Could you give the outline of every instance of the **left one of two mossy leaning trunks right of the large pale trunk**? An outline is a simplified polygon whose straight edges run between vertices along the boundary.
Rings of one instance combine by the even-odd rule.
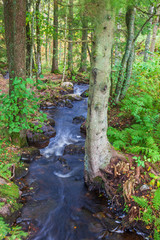
[[[115,90],[115,102],[119,102],[121,89],[123,86],[124,81],[124,75],[126,71],[127,62],[133,47],[133,41],[134,41],[134,21],[135,21],[135,8],[129,7],[126,13],[126,24],[128,29],[128,38],[126,43],[126,49],[125,54],[123,55],[122,61],[121,61],[121,67],[119,70],[119,76],[117,80],[116,90]]]

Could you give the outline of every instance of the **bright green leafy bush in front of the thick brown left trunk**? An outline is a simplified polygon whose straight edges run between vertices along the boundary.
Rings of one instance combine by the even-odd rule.
[[[30,87],[26,88],[26,84]],[[19,133],[22,129],[33,128],[36,131],[41,126],[33,126],[31,120],[36,119],[39,122],[46,120],[45,114],[38,115],[38,99],[31,90],[33,86],[32,79],[28,78],[25,82],[16,77],[13,80],[11,95],[0,95],[0,128],[7,129],[10,135]]]

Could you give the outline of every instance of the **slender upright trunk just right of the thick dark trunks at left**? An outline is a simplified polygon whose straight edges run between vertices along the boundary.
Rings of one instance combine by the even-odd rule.
[[[41,64],[41,38],[40,38],[40,20],[39,20],[39,7],[41,0],[36,1],[36,37],[37,37],[37,51],[36,51],[36,60],[37,60],[37,74],[38,76],[42,73],[42,64]]]

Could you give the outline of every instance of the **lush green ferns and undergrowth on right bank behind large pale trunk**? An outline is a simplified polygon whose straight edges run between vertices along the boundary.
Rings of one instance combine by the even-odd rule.
[[[108,129],[110,142],[117,150],[160,160],[159,60],[137,63],[131,87],[121,102],[120,116],[132,116],[134,124],[123,130]],[[159,75],[158,75],[159,74]]]

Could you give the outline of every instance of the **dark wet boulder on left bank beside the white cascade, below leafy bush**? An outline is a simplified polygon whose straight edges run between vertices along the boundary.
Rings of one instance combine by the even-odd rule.
[[[55,137],[56,130],[51,125],[41,127],[42,133],[27,131],[27,141],[29,146],[44,148],[48,146],[49,139]]]

